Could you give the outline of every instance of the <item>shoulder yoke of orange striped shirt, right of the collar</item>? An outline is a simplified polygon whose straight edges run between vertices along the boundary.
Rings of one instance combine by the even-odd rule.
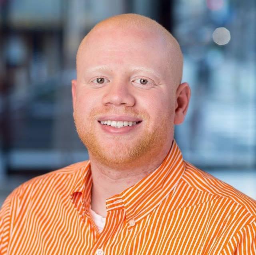
[[[225,198],[233,204],[240,205],[256,218],[256,200],[240,192],[230,184],[200,170],[193,164],[186,161],[184,163],[186,171],[183,180],[189,186],[201,192],[212,194],[215,198]]]

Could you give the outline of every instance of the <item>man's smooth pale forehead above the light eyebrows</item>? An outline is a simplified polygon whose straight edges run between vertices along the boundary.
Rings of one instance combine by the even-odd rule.
[[[138,28],[117,29],[100,28],[88,35],[80,50],[80,56],[97,61],[96,54],[101,57],[118,55],[161,55],[164,56],[166,42],[160,36]]]

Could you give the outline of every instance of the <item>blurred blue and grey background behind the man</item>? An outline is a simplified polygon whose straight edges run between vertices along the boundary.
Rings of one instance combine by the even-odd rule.
[[[184,159],[256,199],[255,0],[0,0],[0,206],[22,182],[88,159],[72,117],[76,51],[97,22],[130,12],[184,53]]]

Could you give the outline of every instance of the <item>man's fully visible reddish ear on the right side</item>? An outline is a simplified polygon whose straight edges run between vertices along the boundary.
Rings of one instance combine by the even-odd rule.
[[[175,105],[175,117],[174,124],[181,124],[188,111],[188,104],[190,100],[191,90],[188,83],[181,83],[176,90],[176,105]]]

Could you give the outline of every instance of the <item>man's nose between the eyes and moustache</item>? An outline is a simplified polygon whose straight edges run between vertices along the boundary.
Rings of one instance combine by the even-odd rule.
[[[135,98],[132,94],[132,86],[124,79],[110,81],[106,86],[106,93],[102,98],[103,105],[126,105],[132,107]]]

